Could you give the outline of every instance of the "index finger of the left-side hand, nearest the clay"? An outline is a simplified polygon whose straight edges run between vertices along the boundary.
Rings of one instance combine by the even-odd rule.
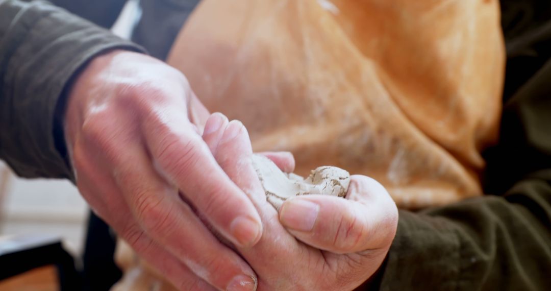
[[[220,168],[180,110],[166,109],[143,126],[150,153],[166,179],[225,238],[238,246],[256,244],[262,224],[255,207]]]

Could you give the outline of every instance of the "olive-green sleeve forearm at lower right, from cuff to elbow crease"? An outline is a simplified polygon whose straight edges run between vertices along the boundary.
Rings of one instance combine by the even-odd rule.
[[[381,290],[549,290],[551,171],[424,213],[402,211]]]

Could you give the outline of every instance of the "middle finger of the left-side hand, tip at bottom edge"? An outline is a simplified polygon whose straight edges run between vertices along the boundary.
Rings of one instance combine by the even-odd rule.
[[[249,265],[210,233],[177,190],[149,166],[139,147],[126,148],[116,181],[145,233],[214,287],[254,287],[255,273]]]

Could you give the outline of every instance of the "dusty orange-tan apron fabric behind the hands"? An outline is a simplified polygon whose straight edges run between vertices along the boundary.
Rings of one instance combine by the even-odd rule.
[[[499,21],[495,0],[203,0],[168,62],[255,150],[374,177],[417,208],[481,193]]]

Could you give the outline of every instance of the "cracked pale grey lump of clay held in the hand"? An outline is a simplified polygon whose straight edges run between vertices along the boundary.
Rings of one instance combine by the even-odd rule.
[[[283,173],[276,164],[262,155],[253,155],[252,164],[264,187],[266,200],[279,210],[289,197],[321,194],[344,197],[350,184],[350,174],[333,166],[321,166],[306,179],[293,173]]]

